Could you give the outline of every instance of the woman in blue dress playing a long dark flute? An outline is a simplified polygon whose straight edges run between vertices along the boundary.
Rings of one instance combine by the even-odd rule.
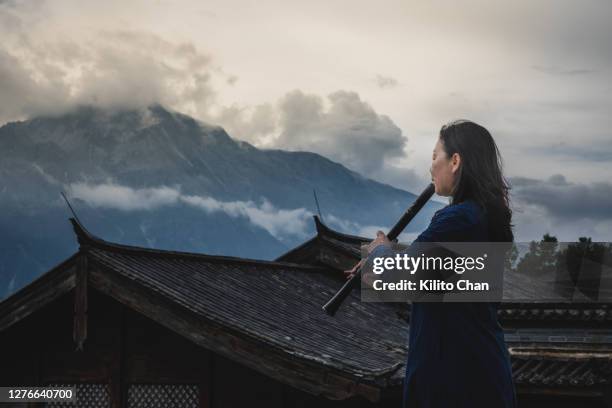
[[[484,127],[466,120],[442,126],[430,172],[436,193],[451,199],[417,242],[513,240],[499,150]],[[389,247],[379,231],[368,246],[368,260],[385,256]],[[516,407],[497,306],[413,302],[405,407]]]

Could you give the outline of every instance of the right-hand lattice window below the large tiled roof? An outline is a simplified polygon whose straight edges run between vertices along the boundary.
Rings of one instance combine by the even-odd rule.
[[[199,389],[191,384],[132,384],[128,408],[198,408]]]

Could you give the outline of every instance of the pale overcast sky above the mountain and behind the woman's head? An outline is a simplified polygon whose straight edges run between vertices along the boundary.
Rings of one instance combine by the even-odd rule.
[[[0,122],[160,102],[418,192],[467,118],[519,239],[612,240],[610,21],[605,0],[0,0]]]

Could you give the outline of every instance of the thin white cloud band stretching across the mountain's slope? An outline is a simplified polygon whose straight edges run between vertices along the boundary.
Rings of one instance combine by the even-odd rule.
[[[279,209],[265,198],[260,204],[253,201],[219,201],[213,197],[184,195],[173,187],[131,188],[111,182],[93,185],[73,183],[67,190],[70,197],[83,200],[90,206],[122,211],[154,210],[183,203],[208,214],[221,212],[233,218],[244,218],[281,240],[287,236],[306,237],[312,224],[313,214],[305,208]]]

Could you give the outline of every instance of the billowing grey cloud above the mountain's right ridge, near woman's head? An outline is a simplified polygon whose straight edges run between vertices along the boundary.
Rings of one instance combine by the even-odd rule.
[[[406,154],[401,129],[356,92],[322,97],[294,90],[275,103],[225,107],[214,119],[233,137],[260,148],[315,152],[368,178],[422,186],[423,177],[393,163]]]

